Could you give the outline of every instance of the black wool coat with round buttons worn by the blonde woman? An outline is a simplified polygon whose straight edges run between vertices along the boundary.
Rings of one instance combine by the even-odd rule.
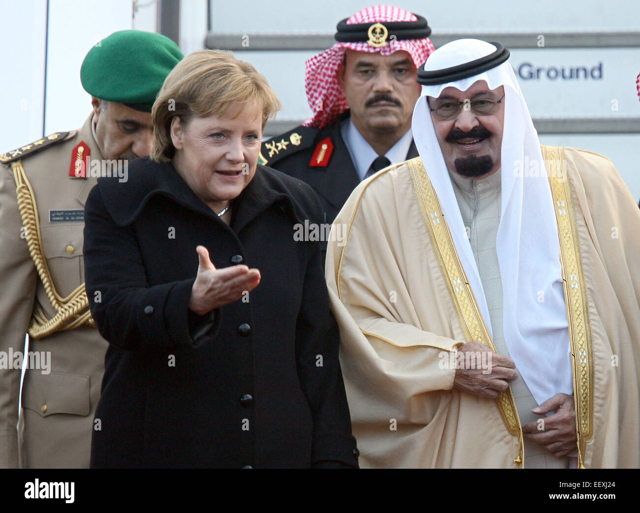
[[[318,242],[300,180],[258,166],[227,226],[172,164],[136,159],[86,201],[86,292],[109,341],[94,468],[357,466]],[[188,309],[195,248],[260,284],[200,316]],[[99,420],[99,422],[98,422]]]

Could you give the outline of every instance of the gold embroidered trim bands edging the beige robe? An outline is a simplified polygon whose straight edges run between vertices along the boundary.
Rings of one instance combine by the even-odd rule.
[[[573,200],[564,167],[564,148],[541,146],[541,150],[554,201],[560,242],[564,300],[572,357],[578,466],[585,468],[586,442],[593,435],[593,343],[589,324],[588,298],[582,271]],[[429,180],[420,159],[412,159],[408,164],[424,224],[433,241],[436,258],[445,277],[465,339],[467,342],[478,340],[495,351],[468,284],[467,276],[457,257],[451,232],[445,223],[440,202],[431,180]],[[497,405],[509,433],[517,435],[519,438],[520,454],[514,460],[516,466],[519,467],[524,462],[524,442],[520,418],[510,388],[507,392],[499,395]]]

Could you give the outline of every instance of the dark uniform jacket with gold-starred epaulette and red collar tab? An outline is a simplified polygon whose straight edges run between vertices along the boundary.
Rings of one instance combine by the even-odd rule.
[[[349,149],[340,134],[340,123],[348,116],[349,111],[346,111],[337,122],[323,129],[300,125],[262,143],[262,164],[311,185],[322,203],[326,223],[333,223],[349,194],[360,183]],[[330,146],[322,154],[322,145],[328,144],[326,139],[333,145],[328,157]],[[412,141],[406,158],[417,156],[418,150]]]

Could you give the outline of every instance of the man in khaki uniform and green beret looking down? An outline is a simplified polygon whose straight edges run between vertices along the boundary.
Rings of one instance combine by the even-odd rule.
[[[151,107],[181,58],[162,35],[112,34],[83,61],[83,127],[0,155],[0,467],[89,466],[108,343],[84,292],[84,202],[100,173],[126,179],[118,164],[149,154]]]

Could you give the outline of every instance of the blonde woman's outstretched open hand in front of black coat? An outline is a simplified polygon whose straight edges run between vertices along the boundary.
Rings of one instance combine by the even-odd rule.
[[[246,265],[233,265],[218,271],[209,260],[207,248],[198,246],[196,252],[200,262],[198,276],[191,287],[189,309],[198,315],[237,301],[245,290],[253,290],[260,283],[260,271],[257,269],[249,269]]]

